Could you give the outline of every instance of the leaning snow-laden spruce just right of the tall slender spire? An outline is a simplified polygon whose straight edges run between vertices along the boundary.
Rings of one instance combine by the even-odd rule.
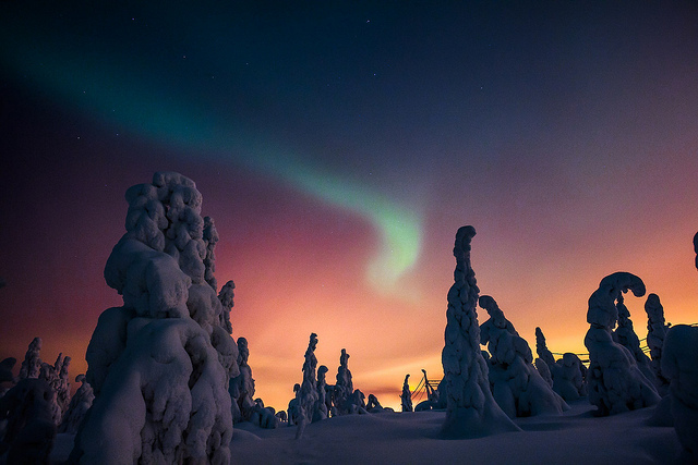
[[[538,372],[528,342],[506,319],[496,301],[483,295],[479,304],[490,315],[480,325],[480,342],[488,344],[492,393],[504,413],[514,418],[559,415],[569,409]]]

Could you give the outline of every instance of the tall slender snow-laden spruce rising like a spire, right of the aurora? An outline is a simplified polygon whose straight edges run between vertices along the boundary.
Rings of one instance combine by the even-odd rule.
[[[441,395],[446,396],[442,435],[454,439],[520,430],[494,401],[488,364],[480,352],[480,326],[476,313],[480,290],[470,266],[470,241],[474,235],[473,227],[462,227],[456,233],[455,282],[448,291],[442,351],[445,392]]]

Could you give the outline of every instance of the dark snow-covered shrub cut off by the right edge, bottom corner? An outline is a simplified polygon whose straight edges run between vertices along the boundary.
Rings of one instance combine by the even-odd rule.
[[[698,235],[697,235],[698,237]],[[666,332],[662,374],[670,380],[671,412],[678,440],[698,462],[698,328],[676,325]]]

